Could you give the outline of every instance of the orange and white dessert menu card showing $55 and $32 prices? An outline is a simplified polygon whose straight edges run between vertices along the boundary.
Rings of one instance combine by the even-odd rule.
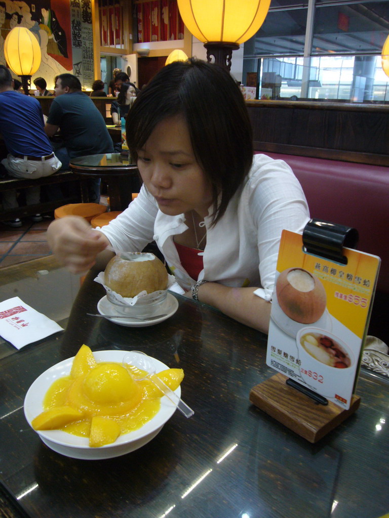
[[[283,231],[267,364],[348,409],[380,258],[343,253],[345,265],[305,253],[302,236]]]

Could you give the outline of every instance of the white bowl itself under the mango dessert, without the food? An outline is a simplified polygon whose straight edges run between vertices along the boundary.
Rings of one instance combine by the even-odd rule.
[[[129,351],[96,351],[93,353],[97,362],[117,362],[121,363],[124,356]],[[139,355],[141,357],[141,355]],[[63,362],[53,365],[41,374],[31,385],[24,398],[24,415],[31,426],[32,420],[43,412],[43,399],[51,384],[58,378],[70,374],[73,359],[68,358]],[[169,369],[167,365],[151,358],[156,372]],[[136,364],[136,361],[134,362]],[[181,396],[181,387],[174,391],[178,397]],[[138,430],[131,431],[129,434],[120,435],[112,444],[106,444],[100,448],[90,448],[87,437],[78,437],[67,434],[61,430],[39,430],[37,434],[41,440],[55,452],[66,455],[67,457],[80,459],[104,459],[118,457],[126,453],[141,448],[144,444],[154,438],[161,430],[163,425],[174,414],[176,406],[166,397],[161,398],[161,408],[159,412]]]

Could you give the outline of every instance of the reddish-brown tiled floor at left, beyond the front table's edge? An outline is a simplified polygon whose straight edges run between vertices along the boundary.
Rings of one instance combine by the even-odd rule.
[[[19,228],[0,222],[0,267],[50,255],[46,230],[51,221],[44,218],[40,223],[33,223],[25,218]]]

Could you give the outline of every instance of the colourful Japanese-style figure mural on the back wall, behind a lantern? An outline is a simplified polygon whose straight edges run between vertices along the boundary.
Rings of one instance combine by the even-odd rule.
[[[94,76],[91,0],[0,0],[0,64],[6,65],[4,41],[14,27],[28,28],[38,40],[41,63],[32,81],[43,77],[54,88],[60,74],[76,75],[82,87]]]

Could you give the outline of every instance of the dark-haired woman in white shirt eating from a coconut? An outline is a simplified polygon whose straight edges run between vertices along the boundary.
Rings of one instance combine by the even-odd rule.
[[[187,296],[267,333],[281,232],[302,231],[309,212],[285,162],[253,157],[237,83],[217,65],[174,62],[137,96],[126,131],[141,192],[99,231],[54,221],[51,249],[80,272],[108,246],[140,251],[154,239]]]

